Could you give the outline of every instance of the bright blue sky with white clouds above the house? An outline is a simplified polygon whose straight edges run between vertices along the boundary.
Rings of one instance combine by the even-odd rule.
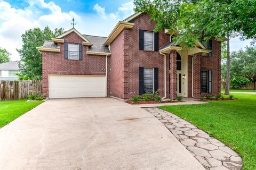
[[[16,48],[21,48],[21,35],[26,30],[47,25],[51,29],[71,28],[75,18],[81,33],[108,36],[116,23],[133,14],[132,0],[0,0],[0,47],[19,60]],[[250,45],[250,40],[231,39],[230,49],[238,50]]]

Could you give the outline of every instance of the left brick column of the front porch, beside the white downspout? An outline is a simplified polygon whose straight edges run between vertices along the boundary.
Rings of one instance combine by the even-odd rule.
[[[177,52],[171,50],[170,52],[170,98],[177,97]]]

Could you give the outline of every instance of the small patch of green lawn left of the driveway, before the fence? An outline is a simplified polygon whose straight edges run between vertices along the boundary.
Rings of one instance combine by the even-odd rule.
[[[14,100],[0,101],[0,128],[12,122],[17,117],[30,111],[34,107],[43,103],[43,101]]]

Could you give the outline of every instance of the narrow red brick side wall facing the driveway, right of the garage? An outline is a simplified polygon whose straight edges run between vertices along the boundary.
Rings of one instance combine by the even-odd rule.
[[[110,95],[124,99],[124,30],[110,47]]]

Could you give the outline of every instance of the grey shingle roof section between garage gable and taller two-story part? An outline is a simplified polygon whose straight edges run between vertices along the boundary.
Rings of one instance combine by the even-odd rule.
[[[90,36],[84,35],[84,37],[90,40],[93,43],[93,46],[89,47],[87,51],[89,52],[100,52],[100,53],[110,53],[108,47],[104,46],[104,42],[106,41],[107,37],[100,37],[100,36]]]

